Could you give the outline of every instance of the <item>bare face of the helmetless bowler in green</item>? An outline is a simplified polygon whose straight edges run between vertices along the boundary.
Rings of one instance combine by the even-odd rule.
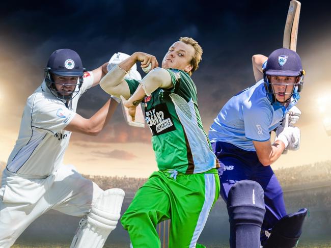
[[[177,41],[171,45],[162,60],[162,68],[173,68],[189,72],[192,69],[190,61],[194,56],[195,50],[191,45],[182,41]]]

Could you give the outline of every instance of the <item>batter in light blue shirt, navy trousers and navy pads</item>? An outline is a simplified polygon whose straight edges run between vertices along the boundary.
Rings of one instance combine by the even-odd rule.
[[[293,124],[301,115],[295,106],[305,74],[301,59],[295,51],[281,48],[273,51],[268,58],[253,56],[253,69],[256,84],[233,96],[220,110],[209,130],[209,139],[221,166],[218,169],[220,194],[227,202],[232,248],[240,247],[238,244],[247,240],[253,243],[245,243],[243,247],[259,247],[261,227],[262,245],[268,242],[264,230],[278,237],[283,244],[294,242],[294,239],[296,242],[306,215],[305,209],[294,214],[299,216],[299,221],[294,222],[295,230],[287,233],[292,236],[291,241],[284,241],[283,234],[272,233],[277,223],[289,226],[286,220],[285,224],[280,222],[288,216],[281,185],[270,164],[284,150],[299,148],[300,130]],[[289,126],[284,127],[281,124],[287,113]],[[273,130],[276,131],[274,142],[270,140]],[[237,182],[240,182],[241,187],[237,186],[240,189],[231,192]],[[229,194],[232,194],[231,202]],[[239,226],[242,226],[241,229]],[[283,227],[281,229],[284,230]],[[254,238],[252,235],[255,235]]]

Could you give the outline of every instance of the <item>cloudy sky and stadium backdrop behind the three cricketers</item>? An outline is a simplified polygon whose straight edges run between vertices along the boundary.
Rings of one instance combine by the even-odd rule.
[[[298,122],[301,148],[282,156],[272,168],[284,187],[288,211],[310,209],[301,244],[331,247],[331,137],[323,126],[331,117],[330,3],[322,5],[309,0],[301,3],[297,51],[307,71],[298,103],[302,111]],[[281,46],[288,5],[289,1],[285,0],[3,3],[0,8],[2,167],[15,144],[25,100],[40,85],[43,67],[52,51],[74,49],[91,70],[118,51],[129,54],[145,51],[161,62],[172,42],[181,36],[194,37],[204,49],[203,61],[192,78],[208,131],[224,103],[254,84],[252,55],[268,55]],[[78,113],[90,117],[107,98],[99,87],[91,89],[81,98]],[[79,172],[103,188],[126,189],[123,210],[137,187],[156,170],[150,131],[125,125],[120,108],[99,136],[73,134],[65,163],[74,164]],[[226,247],[228,222],[222,201],[217,202],[211,216],[201,241]],[[77,221],[75,217],[50,211],[23,233],[16,247],[29,243],[31,247],[43,243],[49,247],[54,243],[56,247],[57,242],[68,246]],[[107,245],[112,245],[112,240],[127,247],[128,236],[120,226]]]

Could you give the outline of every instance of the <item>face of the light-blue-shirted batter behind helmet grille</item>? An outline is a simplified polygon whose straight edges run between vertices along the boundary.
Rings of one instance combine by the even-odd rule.
[[[285,102],[292,96],[297,77],[270,76],[269,81],[272,84],[276,99],[280,102]]]

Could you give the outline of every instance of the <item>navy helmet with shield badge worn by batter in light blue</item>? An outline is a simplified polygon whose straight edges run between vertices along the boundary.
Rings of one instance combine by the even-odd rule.
[[[272,104],[285,105],[293,100],[298,100],[300,98],[299,92],[304,86],[304,75],[305,70],[302,69],[301,59],[299,54],[295,51],[287,48],[280,48],[271,52],[268,57],[267,62],[263,65],[263,79],[264,86],[267,93],[268,99]],[[275,92],[273,90],[273,85],[269,82],[268,76],[290,76],[299,77],[294,84],[282,84],[286,85],[284,93],[284,101],[280,102],[275,97]],[[287,87],[293,85],[293,90],[290,93],[286,93]],[[290,97],[286,99],[286,96],[290,94]]]

